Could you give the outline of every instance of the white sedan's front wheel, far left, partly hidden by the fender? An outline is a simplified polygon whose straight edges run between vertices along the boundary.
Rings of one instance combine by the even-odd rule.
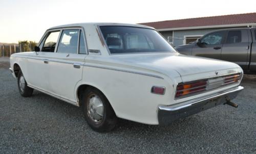
[[[28,87],[21,70],[18,72],[18,90],[23,97],[29,97],[33,93],[33,88]]]

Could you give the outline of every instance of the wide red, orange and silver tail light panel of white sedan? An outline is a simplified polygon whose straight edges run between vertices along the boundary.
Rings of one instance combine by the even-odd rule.
[[[238,83],[241,74],[219,76],[217,78],[203,79],[201,81],[180,83],[177,86],[175,98],[201,93],[203,91],[220,88],[222,86]]]

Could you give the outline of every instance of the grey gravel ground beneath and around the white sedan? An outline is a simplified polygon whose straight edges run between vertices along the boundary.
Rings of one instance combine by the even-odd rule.
[[[256,80],[234,99],[169,126],[120,119],[110,133],[90,129],[78,107],[44,93],[19,95],[0,64],[0,153],[254,153]]]

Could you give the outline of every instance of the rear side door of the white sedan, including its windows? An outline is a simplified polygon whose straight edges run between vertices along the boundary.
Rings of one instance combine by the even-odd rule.
[[[61,30],[57,49],[49,58],[49,91],[76,104],[76,84],[82,80],[82,67],[87,56],[82,29]]]

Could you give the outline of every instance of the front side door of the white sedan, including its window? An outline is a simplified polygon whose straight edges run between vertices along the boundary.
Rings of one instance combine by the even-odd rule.
[[[54,54],[59,33],[59,30],[48,31],[40,42],[40,52],[34,53],[34,56],[28,59],[28,84],[30,86],[44,91],[49,90],[49,65],[47,65],[47,59]]]

